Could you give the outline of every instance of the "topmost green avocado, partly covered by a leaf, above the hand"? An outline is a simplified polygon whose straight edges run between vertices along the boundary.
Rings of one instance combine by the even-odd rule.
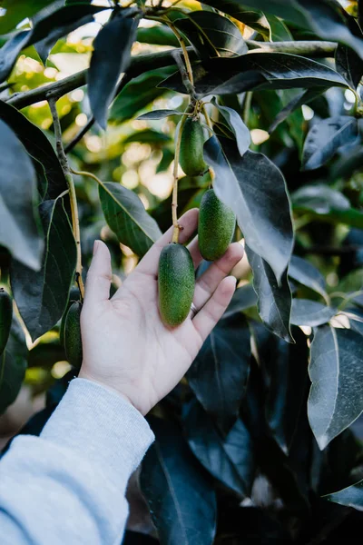
[[[188,117],[182,128],[179,163],[187,176],[201,176],[208,169],[203,159],[204,134],[200,122]]]

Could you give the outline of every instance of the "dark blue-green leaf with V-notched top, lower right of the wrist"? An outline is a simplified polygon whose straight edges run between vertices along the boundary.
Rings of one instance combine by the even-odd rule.
[[[207,471],[242,496],[250,495],[255,461],[250,433],[238,419],[225,439],[198,401],[191,401],[183,417],[187,440]]]

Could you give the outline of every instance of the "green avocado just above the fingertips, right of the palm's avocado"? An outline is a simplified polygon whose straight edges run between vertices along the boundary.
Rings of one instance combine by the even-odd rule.
[[[215,261],[226,253],[235,227],[236,216],[231,208],[209,189],[201,199],[199,211],[198,237],[202,257]]]

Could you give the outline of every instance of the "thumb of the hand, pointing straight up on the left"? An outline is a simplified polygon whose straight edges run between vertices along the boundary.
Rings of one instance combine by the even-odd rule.
[[[85,283],[84,304],[93,305],[110,297],[111,255],[105,243],[94,241],[93,258]]]

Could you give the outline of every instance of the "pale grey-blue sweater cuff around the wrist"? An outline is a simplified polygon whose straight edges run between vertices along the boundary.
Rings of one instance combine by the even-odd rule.
[[[129,401],[86,379],[70,382],[41,437],[101,466],[113,480],[131,475],[154,440]]]

